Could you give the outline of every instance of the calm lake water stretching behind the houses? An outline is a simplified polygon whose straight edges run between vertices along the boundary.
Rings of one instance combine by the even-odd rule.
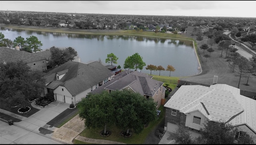
[[[114,53],[118,57],[118,64],[113,65],[120,65],[123,69],[125,59],[138,53],[146,66],[162,65],[166,69],[167,65],[172,65],[176,71],[171,72],[171,76],[190,76],[200,72],[192,41],[131,35],[55,33],[3,27],[0,32],[4,34],[4,38],[12,41],[18,36],[26,39],[34,35],[43,44],[41,47],[43,51],[53,46],[72,47],[77,51],[81,63],[100,59],[103,65],[110,65],[106,64],[105,60],[108,54]],[[141,71],[150,74],[150,71],[145,69],[146,66]],[[159,71],[152,71],[152,74],[159,75]],[[169,76],[169,74],[170,71],[160,72],[162,76]]]

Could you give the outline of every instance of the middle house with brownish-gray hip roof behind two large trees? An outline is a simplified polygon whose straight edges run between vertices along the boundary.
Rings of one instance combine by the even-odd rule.
[[[156,108],[159,108],[165,102],[166,88],[163,86],[163,82],[154,80],[152,77],[139,71],[122,71],[112,76],[112,80],[91,93],[101,93],[104,90],[111,93],[111,91],[128,89],[140,93],[145,98],[153,98],[156,102]]]

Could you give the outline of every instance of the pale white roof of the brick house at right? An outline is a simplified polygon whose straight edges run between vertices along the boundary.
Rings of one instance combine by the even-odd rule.
[[[240,95],[240,89],[227,84],[214,84],[210,87],[182,85],[164,107],[184,114],[199,111],[213,121],[228,121],[243,111],[230,123],[234,126],[246,124],[256,132],[256,100]]]

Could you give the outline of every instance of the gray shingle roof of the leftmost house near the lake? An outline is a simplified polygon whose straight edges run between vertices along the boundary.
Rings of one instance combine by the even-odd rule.
[[[6,63],[16,62],[17,60],[22,60],[24,63],[31,63],[44,59],[44,57],[37,55],[37,53],[29,53],[26,51],[18,51],[7,47],[0,47],[0,63],[3,63],[3,61]]]

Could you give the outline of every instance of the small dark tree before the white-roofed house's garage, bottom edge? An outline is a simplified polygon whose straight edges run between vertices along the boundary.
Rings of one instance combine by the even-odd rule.
[[[196,144],[190,136],[188,129],[184,125],[178,125],[174,134],[176,144]]]

